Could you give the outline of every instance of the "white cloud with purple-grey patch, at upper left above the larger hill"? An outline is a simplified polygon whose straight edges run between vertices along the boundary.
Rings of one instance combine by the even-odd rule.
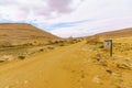
[[[81,0],[4,0],[0,1],[0,15],[19,21],[23,14],[25,20],[44,21],[73,12],[79,2]]]

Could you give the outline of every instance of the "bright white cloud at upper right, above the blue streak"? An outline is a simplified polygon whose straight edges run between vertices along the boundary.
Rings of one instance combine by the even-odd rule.
[[[85,0],[73,13],[53,19],[50,22],[131,16],[131,0]]]

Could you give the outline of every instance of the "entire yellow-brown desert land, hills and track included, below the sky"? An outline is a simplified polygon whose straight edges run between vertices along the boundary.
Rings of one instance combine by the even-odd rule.
[[[112,40],[112,57],[103,46]],[[132,88],[132,29],[62,38],[0,24],[0,88]]]

